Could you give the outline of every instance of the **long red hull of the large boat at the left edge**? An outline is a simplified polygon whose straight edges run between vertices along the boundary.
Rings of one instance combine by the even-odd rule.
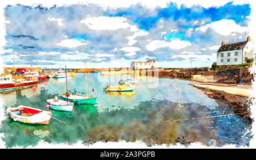
[[[34,85],[42,83],[45,80],[46,79],[38,80],[38,81],[29,81],[27,83],[20,83],[20,84],[17,84],[17,85],[15,85],[15,83],[0,84],[0,91],[32,87]]]

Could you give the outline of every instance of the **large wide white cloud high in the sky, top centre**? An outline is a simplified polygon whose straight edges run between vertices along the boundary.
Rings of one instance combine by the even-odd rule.
[[[131,32],[137,32],[139,29],[136,25],[131,25],[127,23],[127,19],[123,17],[109,17],[109,16],[99,16],[99,17],[89,17],[81,20],[80,23],[84,23],[88,28],[101,31],[101,30],[117,30],[119,28],[130,27]]]

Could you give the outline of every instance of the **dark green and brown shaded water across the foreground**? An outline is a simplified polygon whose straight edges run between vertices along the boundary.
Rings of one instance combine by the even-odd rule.
[[[76,90],[71,93],[75,94]],[[59,94],[49,94],[45,88],[29,98],[22,96],[18,90],[13,107],[24,105],[47,110],[46,100],[55,96]],[[238,116],[218,116],[223,114],[222,110],[220,112],[194,102],[151,100],[139,102],[132,109],[115,105],[103,108],[96,104],[75,105],[70,113],[51,111],[54,118],[51,118],[49,126],[12,122],[5,113],[0,133],[4,133],[2,140],[6,147],[26,148],[38,145],[40,140],[55,144],[84,141],[86,145],[97,141],[141,140],[148,146],[189,145],[193,142],[209,146],[214,141],[217,146],[246,146],[251,139],[251,131],[247,131],[248,127]],[[205,118],[209,116],[214,118]]]

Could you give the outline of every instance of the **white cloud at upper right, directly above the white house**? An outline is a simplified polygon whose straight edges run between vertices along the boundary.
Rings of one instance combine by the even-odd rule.
[[[196,28],[196,31],[199,29],[205,32],[208,28],[214,29],[214,31],[224,35],[229,36],[232,32],[243,33],[249,31],[247,27],[241,27],[241,25],[236,24],[232,19],[222,19],[219,21],[213,21],[207,25]]]

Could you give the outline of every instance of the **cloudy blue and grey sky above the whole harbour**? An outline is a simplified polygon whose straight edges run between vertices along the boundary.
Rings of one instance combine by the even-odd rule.
[[[249,3],[102,3],[6,5],[3,66],[130,67],[152,59],[158,67],[211,67],[221,41],[245,41],[250,31]]]

